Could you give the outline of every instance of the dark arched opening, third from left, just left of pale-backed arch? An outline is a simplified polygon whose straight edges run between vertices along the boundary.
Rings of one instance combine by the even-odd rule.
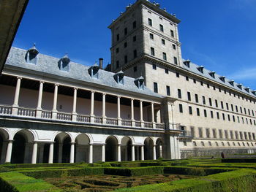
[[[58,132],[54,138],[53,162],[54,163],[69,163],[70,161],[70,146],[72,137],[67,132]],[[49,144],[45,145],[44,153],[47,154]],[[45,155],[44,155],[45,156]]]

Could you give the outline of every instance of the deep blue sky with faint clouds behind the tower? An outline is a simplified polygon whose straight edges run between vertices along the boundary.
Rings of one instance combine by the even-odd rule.
[[[30,0],[13,46],[110,63],[108,26],[135,0]],[[256,89],[256,0],[159,0],[181,20],[182,57]]]

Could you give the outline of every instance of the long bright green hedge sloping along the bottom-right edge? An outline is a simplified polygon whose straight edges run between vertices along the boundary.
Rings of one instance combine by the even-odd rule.
[[[176,180],[170,183],[121,188],[115,192],[254,192],[256,171],[240,169],[233,172],[211,174],[197,179]]]

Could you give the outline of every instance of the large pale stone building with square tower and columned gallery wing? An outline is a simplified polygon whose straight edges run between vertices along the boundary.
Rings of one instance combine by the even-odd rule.
[[[182,59],[178,23],[138,0],[113,20],[111,64],[12,47],[0,161],[135,161],[256,150],[256,92]],[[110,71],[110,72],[109,72]]]

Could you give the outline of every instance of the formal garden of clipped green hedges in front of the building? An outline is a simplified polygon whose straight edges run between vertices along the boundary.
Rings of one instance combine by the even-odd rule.
[[[4,164],[3,192],[255,191],[256,158]]]

